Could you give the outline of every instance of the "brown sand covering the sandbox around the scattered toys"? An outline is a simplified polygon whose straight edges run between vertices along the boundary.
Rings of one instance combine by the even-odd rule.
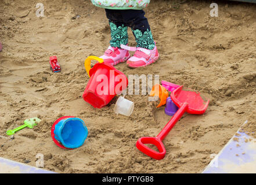
[[[146,11],[160,59],[146,68],[116,68],[125,75],[152,74],[193,88],[210,98],[203,115],[185,114],[164,139],[167,154],[157,161],[136,149],[142,136],[156,136],[170,116],[154,108],[149,95],[126,95],[134,101],[131,117],[110,105],[95,109],[82,99],[89,80],[84,60],[109,46],[110,28],[103,9],[89,0],[0,0],[0,156],[35,166],[44,154],[44,168],[59,173],[200,173],[240,125],[255,128],[256,5],[216,1],[152,1]],[[129,45],[135,39],[129,29]],[[52,73],[56,55],[62,72]],[[8,139],[5,132],[25,119],[41,123]],[[51,127],[61,116],[85,121],[88,138],[74,150],[53,143]]]

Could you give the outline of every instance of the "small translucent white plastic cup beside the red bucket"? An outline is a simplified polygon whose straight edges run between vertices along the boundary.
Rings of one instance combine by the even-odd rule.
[[[114,112],[117,114],[122,114],[124,116],[131,116],[134,111],[134,102],[125,99],[124,97],[119,97],[117,99],[116,105],[114,107]]]

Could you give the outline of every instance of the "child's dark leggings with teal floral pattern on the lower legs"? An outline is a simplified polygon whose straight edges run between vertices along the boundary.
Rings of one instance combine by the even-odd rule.
[[[105,10],[111,29],[110,46],[127,45],[127,28],[130,27],[135,36],[137,47],[154,49],[154,39],[143,10]]]

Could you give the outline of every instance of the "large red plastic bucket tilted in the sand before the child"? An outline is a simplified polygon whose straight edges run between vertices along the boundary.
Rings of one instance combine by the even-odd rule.
[[[95,57],[93,60],[95,60]],[[91,78],[82,97],[94,108],[106,106],[115,95],[121,94],[128,86],[127,76],[112,65],[104,62],[96,63],[89,70],[88,75]]]

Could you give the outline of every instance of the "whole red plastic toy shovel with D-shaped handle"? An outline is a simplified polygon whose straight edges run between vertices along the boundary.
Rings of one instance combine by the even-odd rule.
[[[176,88],[172,91],[171,99],[179,110],[172,116],[171,120],[165,125],[162,131],[154,137],[143,137],[139,138],[136,143],[136,147],[145,153],[147,156],[152,157],[156,160],[161,160],[164,158],[166,150],[162,140],[171,131],[172,127],[179,121],[185,112],[190,114],[203,114],[208,107],[209,100],[204,101],[201,98],[199,92],[195,92],[191,89],[182,89],[183,86]],[[152,144],[157,147],[158,151],[152,150],[145,144]]]

